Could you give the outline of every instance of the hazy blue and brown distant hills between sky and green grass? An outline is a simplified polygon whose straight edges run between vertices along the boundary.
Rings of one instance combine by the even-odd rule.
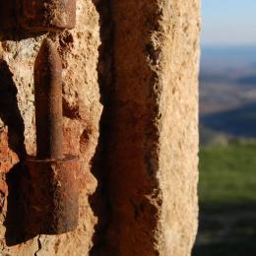
[[[201,144],[256,138],[256,47],[203,47]]]

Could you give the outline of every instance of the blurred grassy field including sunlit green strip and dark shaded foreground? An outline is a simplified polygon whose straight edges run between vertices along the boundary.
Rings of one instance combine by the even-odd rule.
[[[193,256],[256,255],[256,142],[200,151],[200,228]]]

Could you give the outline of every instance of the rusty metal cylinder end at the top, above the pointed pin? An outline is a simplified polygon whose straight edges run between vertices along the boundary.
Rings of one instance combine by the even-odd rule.
[[[76,0],[21,0],[20,26],[28,31],[58,31],[76,25]]]

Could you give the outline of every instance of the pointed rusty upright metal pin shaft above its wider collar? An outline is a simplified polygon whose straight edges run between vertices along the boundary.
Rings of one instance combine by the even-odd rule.
[[[63,159],[62,66],[48,38],[34,63],[34,96],[37,159]]]

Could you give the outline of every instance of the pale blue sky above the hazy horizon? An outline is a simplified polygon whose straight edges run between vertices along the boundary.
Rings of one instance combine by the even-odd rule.
[[[256,45],[256,0],[202,0],[202,45]]]

